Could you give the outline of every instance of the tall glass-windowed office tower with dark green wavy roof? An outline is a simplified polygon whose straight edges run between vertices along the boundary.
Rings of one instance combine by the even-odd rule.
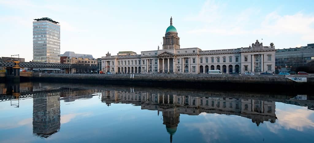
[[[33,62],[60,63],[59,22],[44,17],[33,22]]]

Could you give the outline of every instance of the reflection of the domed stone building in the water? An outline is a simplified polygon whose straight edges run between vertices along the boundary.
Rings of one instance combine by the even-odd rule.
[[[198,115],[217,113],[237,115],[252,119],[259,126],[264,121],[275,123],[275,102],[253,99],[210,98],[197,96],[179,96],[170,94],[152,94],[148,92],[102,91],[102,102],[133,103],[142,109],[162,112],[163,124],[170,134],[170,142],[180,122],[180,114]]]

